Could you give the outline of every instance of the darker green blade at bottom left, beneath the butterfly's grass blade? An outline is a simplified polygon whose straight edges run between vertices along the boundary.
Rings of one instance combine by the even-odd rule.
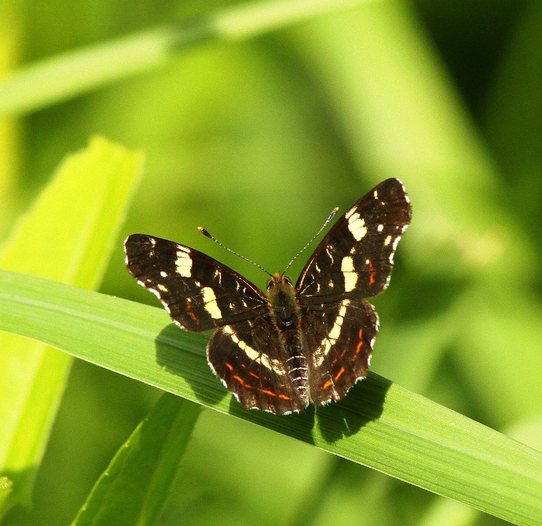
[[[120,447],[73,526],[157,523],[201,406],[166,393]]]

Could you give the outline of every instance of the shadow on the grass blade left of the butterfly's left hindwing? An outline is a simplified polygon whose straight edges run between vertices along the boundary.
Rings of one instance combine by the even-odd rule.
[[[185,332],[170,323],[155,338],[156,362],[168,373],[182,377],[203,404],[216,405],[228,391],[207,364],[205,345],[208,339],[205,334]]]

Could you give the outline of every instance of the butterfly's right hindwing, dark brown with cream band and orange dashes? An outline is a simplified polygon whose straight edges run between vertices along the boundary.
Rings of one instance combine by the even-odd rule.
[[[302,317],[309,354],[309,396],[313,403],[340,400],[367,376],[378,316],[367,301],[343,299],[311,305]]]

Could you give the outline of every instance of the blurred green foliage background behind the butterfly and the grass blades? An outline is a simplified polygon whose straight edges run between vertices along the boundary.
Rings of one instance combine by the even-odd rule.
[[[229,5],[0,0],[0,74]],[[103,134],[146,153],[123,235],[196,247],[263,286],[196,227],[281,271],[333,207],[399,177],[413,221],[374,301],[373,371],[537,446],[541,34],[537,1],[371,1],[179,51],[155,71],[0,122],[0,231],[65,155]],[[122,237],[101,291],[158,304],[127,275]],[[75,362],[21,523],[68,523],[159,394]],[[171,525],[502,523],[211,410],[171,509]]]

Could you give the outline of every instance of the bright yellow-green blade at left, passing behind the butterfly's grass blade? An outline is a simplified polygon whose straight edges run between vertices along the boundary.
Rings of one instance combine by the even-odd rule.
[[[92,140],[66,159],[23,216],[3,247],[0,266],[94,288],[140,166],[140,154]],[[0,470],[14,483],[9,505],[29,505],[71,359],[13,334],[0,334],[0,348],[0,377],[7,386],[0,397]]]

